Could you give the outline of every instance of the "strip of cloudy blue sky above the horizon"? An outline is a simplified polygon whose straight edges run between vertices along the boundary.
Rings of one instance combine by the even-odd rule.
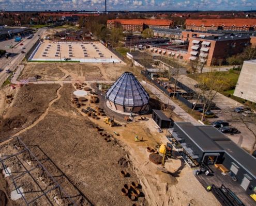
[[[0,0],[0,9],[104,10],[104,0]],[[107,0],[108,10],[256,10],[256,0]]]

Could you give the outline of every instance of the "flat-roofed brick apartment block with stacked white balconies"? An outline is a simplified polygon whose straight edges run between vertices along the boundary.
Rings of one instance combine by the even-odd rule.
[[[190,38],[187,59],[192,61],[198,59],[210,66],[217,64],[218,60],[225,60],[229,56],[243,52],[243,49],[249,44],[249,36]]]

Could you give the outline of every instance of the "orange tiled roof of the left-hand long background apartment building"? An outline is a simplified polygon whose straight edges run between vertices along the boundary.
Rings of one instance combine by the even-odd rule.
[[[161,26],[170,26],[172,24],[172,20],[165,19],[115,19],[108,20],[107,24],[114,24],[115,22],[120,22],[121,24],[127,25],[161,25]]]

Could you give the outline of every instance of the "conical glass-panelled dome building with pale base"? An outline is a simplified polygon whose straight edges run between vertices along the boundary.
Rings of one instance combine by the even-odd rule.
[[[111,107],[122,112],[140,112],[148,105],[149,95],[138,79],[125,72],[107,91],[106,98]]]

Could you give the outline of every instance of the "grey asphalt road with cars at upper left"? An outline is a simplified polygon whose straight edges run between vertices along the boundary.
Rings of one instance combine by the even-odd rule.
[[[7,77],[9,76],[9,74],[7,74],[5,71],[6,70],[11,70],[13,71],[16,66],[22,61],[22,59],[25,57],[25,54],[21,54],[21,51],[23,50],[25,53],[28,52],[28,50],[35,44],[35,42],[40,38],[38,35],[42,36],[43,33],[46,31],[47,29],[38,29],[36,33],[34,33],[34,36],[32,39],[23,39],[21,42],[17,43],[14,42],[14,39],[11,40],[7,40],[7,41],[3,41],[0,42],[0,48],[5,49],[7,52],[12,53],[11,56],[9,56],[8,59],[6,59],[5,57],[2,57],[0,59],[0,68],[1,68],[1,72],[0,72],[0,83],[2,84]],[[22,46],[20,44],[23,44]],[[5,48],[6,45],[10,45],[12,44],[14,47],[13,48]],[[25,47],[25,49],[22,49],[22,47]]]

